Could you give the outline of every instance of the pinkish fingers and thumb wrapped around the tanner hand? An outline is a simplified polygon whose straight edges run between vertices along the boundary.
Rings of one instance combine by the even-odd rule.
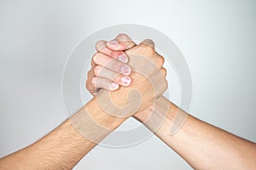
[[[118,46],[113,42],[119,41]],[[91,69],[87,74],[86,88],[90,94],[96,95],[100,89],[115,91],[119,86],[129,86],[131,84],[131,67],[128,63],[128,56],[125,50],[135,47],[136,44],[126,35],[119,35],[112,42],[96,42],[97,53],[91,60]],[[108,48],[109,47],[109,48]],[[116,50],[111,49],[114,48]],[[105,65],[108,62],[108,65]],[[105,65],[105,66],[103,66]],[[108,68],[107,68],[108,66]]]

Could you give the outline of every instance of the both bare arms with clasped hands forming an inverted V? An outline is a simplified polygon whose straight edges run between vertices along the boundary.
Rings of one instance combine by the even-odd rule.
[[[0,169],[72,169],[130,116],[195,169],[255,169],[255,143],[189,116],[161,96],[166,70],[154,42],[136,44],[121,34],[97,42],[96,50],[86,82],[95,97],[44,138],[1,158]]]

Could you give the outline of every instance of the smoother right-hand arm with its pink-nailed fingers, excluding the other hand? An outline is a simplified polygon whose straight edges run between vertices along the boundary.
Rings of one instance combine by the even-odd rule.
[[[108,57],[116,58],[117,53],[122,54],[122,51],[120,50],[125,52],[125,50],[136,45],[131,41],[131,38],[126,35],[119,35],[119,37],[116,37],[114,40],[119,42],[119,44],[115,43],[112,45],[111,42],[98,42],[96,46],[97,51],[108,55]],[[124,40],[126,41],[123,42]],[[101,48],[99,48],[99,44],[101,44]],[[102,46],[106,46],[107,48],[102,48]],[[103,57],[104,55],[102,55],[102,58]],[[96,65],[97,63],[92,61],[92,68],[88,73],[89,78],[86,83],[86,87],[89,91],[92,92],[92,89],[97,89],[96,91],[99,91],[101,88],[114,91],[118,88],[106,88],[110,87],[111,83],[115,81],[109,77],[102,76],[101,84],[94,84],[91,82],[92,77],[95,79],[98,78],[93,71]],[[119,73],[116,71],[114,72],[116,74]],[[115,82],[119,83],[119,86],[123,85],[119,81]],[[128,84],[125,84],[125,86],[128,86]],[[175,120],[175,116],[177,113],[186,113],[181,111],[167,99],[160,99],[161,103],[167,103],[167,105],[170,106],[170,109],[166,117],[162,117],[165,115],[162,111],[158,111],[154,115],[156,118],[166,118],[165,122],[161,124],[155,134],[175,150],[178,155],[182,156],[191,167],[194,167],[195,169],[256,169],[255,143],[248,141],[247,139],[241,139],[236,135],[225,132],[218,127],[214,127],[207,122],[202,122],[194,116],[188,115],[183,126],[177,133],[172,135],[170,129]],[[156,106],[158,106],[158,104]],[[152,114],[151,109],[152,108],[150,107],[145,111],[140,111],[134,116],[138,121],[145,123],[149,129],[154,131],[154,122],[147,122],[148,117]]]

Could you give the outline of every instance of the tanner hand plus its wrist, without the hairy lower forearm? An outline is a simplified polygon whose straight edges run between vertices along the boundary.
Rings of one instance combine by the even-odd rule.
[[[103,111],[106,116],[124,120],[154,106],[159,102],[158,98],[161,94],[166,91],[166,70],[162,68],[164,59],[154,51],[154,48],[140,44],[125,53],[130,58],[128,64],[132,68],[131,85],[120,87],[114,92],[101,89],[93,99],[97,102],[96,108],[82,108],[78,114],[69,119],[84,138],[95,143],[99,143],[105,136],[112,133],[113,129],[102,125],[97,121],[100,120],[96,117],[98,115],[91,116],[91,113],[101,110],[99,112]],[[155,108],[152,112],[155,112],[154,110]]]

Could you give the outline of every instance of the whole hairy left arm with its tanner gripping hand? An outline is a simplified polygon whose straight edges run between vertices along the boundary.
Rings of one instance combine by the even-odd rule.
[[[132,83],[130,87],[120,87],[119,90],[111,93],[111,99],[115,105],[119,107],[124,106],[127,115],[117,115],[117,113],[107,113],[108,111],[117,111],[116,108],[108,107],[106,110],[102,110],[102,103],[99,101],[108,94],[108,91],[101,91],[96,97],[91,99],[83,108],[77,111],[67,121],[63,122],[59,127],[56,127],[51,133],[39,139],[34,144],[27,146],[22,150],[18,150],[15,153],[5,156],[0,159],[0,169],[8,170],[34,170],[34,169],[72,169],[80,159],[82,159],[97,142],[100,142],[114,129],[119,127],[134,111],[143,111],[148,108],[149,105],[154,104],[154,99],[160,96],[166,90],[165,74],[166,70],[162,68],[163,59],[160,55],[156,54],[154,48],[148,46],[146,41],[131,48],[128,53],[138,54],[143,56],[150,63],[155,64],[148,77],[154,77],[154,75],[162,75],[164,78],[159,81],[155,81],[154,85],[160,87],[158,91],[152,93],[152,84],[147,81],[147,78],[142,77],[137,73],[129,73],[132,77]],[[97,55],[97,54],[96,54]],[[96,56],[95,55],[95,56]],[[134,58],[136,59],[136,58]],[[110,62],[111,64],[111,62]],[[143,63],[137,61],[131,65],[132,67],[139,67]],[[120,69],[122,65],[115,65],[115,69]],[[126,73],[128,75],[128,73]],[[97,82],[97,81],[96,81]],[[136,90],[138,94],[142,96],[141,105],[139,108],[135,108],[133,105],[137,105],[137,95],[134,94],[129,100],[129,107],[125,105],[127,103],[127,94],[132,89]],[[103,98],[104,99],[104,98]],[[131,110],[131,113],[129,112]]]

